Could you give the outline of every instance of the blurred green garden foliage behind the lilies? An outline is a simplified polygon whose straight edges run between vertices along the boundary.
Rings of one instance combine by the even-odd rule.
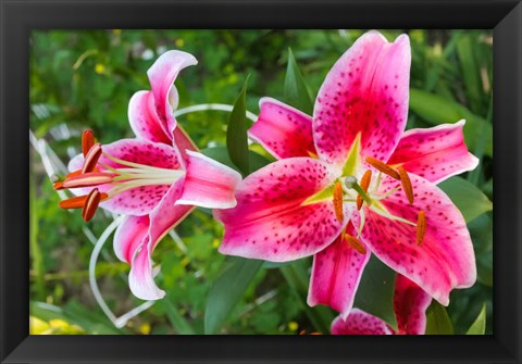
[[[493,328],[493,37],[489,30],[382,30],[393,40],[408,33],[412,46],[410,114],[407,128],[467,120],[470,150],[480,166],[448,181],[450,197],[468,209],[477,258],[478,281],[455,290],[447,313],[451,330],[464,334],[483,304],[486,332]],[[291,48],[314,98],[326,72],[362,30],[52,30],[30,35],[30,129],[64,161],[78,151],[79,134],[94,129],[99,140],[133,137],[127,104],[134,92],[150,89],[147,70],[170,49],[192,53],[197,66],[176,80],[179,108],[228,103],[250,74],[247,109],[258,113],[261,97],[284,100]],[[178,117],[201,149],[225,145],[225,112]],[[35,142],[30,147],[30,331],[32,334],[202,334],[212,283],[224,256],[217,253],[223,229],[211,214],[196,210],[154,251],[157,280],[167,296],[124,327],[115,327],[94,299],[88,280],[92,243],[113,216],[98,213],[85,224],[79,212],[60,210]],[[41,143],[40,143],[41,147]],[[260,148],[256,148],[261,151]],[[449,193],[449,192],[448,192]],[[471,193],[476,203],[470,203]],[[462,198],[464,196],[464,198]],[[463,201],[462,201],[463,200]],[[464,214],[465,215],[465,214]],[[88,227],[89,231],[85,229]],[[86,236],[87,233],[87,236]],[[126,284],[128,266],[112,252],[112,237],[96,266],[101,293],[121,315],[140,304]],[[264,264],[234,306],[222,334],[327,332],[335,313],[306,305],[311,260],[291,268]],[[430,314],[438,307],[431,307]],[[444,313],[445,314],[445,313]],[[448,329],[449,330],[449,329]]]

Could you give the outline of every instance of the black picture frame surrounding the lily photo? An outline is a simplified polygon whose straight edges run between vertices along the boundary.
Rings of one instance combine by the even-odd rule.
[[[0,0],[2,363],[521,363],[522,4],[515,0]],[[46,28],[494,28],[494,335],[29,336],[28,51]]]

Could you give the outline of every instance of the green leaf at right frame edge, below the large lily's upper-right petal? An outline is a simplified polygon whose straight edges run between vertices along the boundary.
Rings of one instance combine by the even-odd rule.
[[[438,185],[445,191],[451,201],[459,208],[467,223],[493,210],[493,203],[489,201],[476,186],[470,184],[463,178],[452,177]]]

